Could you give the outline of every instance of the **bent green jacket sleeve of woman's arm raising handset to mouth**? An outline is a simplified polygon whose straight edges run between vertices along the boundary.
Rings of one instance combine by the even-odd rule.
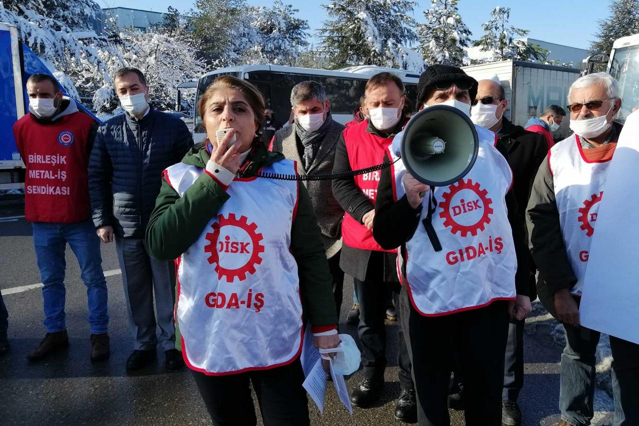
[[[197,241],[204,226],[228,199],[226,190],[206,173],[181,197],[163,177],[146,228],[146,244],[151,255],[159,260],[180,257]]]

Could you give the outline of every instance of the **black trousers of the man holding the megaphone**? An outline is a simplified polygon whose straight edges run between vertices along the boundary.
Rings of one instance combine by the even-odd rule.
[[[438,317],[413,308],[408,290],[399,298],[417,394],[420,426],[448,426],[447,395],[453,354],[458,349],[464,377],[467,426],[502,424],[504,351],[508,335],[507,302]]]

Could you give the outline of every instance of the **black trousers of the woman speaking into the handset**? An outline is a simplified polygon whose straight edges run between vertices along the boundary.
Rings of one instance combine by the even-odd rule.
[[[310,425],[308,400],[302,387],[300,359],[270,370],[229,375],[192,371],[197,389],[215,426],[254,426],[258,423],[249,381],[258,396],[265,426]]]

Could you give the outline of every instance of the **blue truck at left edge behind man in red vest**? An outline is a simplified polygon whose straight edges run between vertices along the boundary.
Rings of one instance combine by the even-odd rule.
[[[15,146],[12,129],[13,123],[29,111],[26,83],[38,73],[53,76],[40,58],[20,42],[17,28],[0,22],[0,190],[24,189],[24,162]],[[64,89],[63,95],[70,98]],[[80,102],[73,101],[78,109],[100,122]]]

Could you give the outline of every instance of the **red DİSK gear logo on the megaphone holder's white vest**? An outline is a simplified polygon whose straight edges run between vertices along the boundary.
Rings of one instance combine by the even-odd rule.
[[[442,195],[440,217],[443,225],[450,228],[450,233],[459,233],[473,237],[483,231],[490,223],[493,214],[493,200],[488,198],[488,191],[482,189],[478,182],[460,179],[449,186],[449,192]]]

